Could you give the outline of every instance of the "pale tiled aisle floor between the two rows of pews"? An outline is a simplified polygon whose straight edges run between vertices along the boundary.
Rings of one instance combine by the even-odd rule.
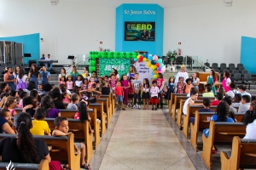
[[[119,113],[100,169],[171,170],[195,167],[162,110],[129,109]]]

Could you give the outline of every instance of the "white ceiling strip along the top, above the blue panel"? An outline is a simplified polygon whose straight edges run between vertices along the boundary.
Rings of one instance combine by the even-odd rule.
[[[72,0],[73,1],[73,0]],[[100,6],[118,7],[122,3],[157,3],[163,8],[191,6],[201,3],[224,3],[224,0],[82,0]],[[60,0],[61,3],[61,0]]]

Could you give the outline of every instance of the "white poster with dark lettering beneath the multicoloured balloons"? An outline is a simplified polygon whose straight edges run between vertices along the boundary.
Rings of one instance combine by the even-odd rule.
[[[148,78],[149,83],[151,82],[151,78],[153,78],[152,75],[152,69],[147,66],[146,61],[143,62],[136,62],[134,63],[134,66],[137,69],[137,72],[139,73],[139,79],[143,82],[144,78]]]

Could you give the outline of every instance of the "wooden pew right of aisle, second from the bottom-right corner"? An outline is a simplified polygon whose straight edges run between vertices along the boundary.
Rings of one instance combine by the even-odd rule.
[[[230,144],[234,136],[243,138],[246,127],[241,122],[210,122],[209,136],[202,134],[203,149],[201,158],[209,169],[212,167],[213,144]]]

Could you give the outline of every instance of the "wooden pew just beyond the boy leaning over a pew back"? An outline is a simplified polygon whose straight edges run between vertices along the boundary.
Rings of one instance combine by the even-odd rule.
[[[50,129],[55,128],[54,118],[46,118],[45,121],[48,123]],[[77,119],[68,119],[69,130],[73,133],[74,139],[79,139],[86,145],[86,161],[89,163],[93,156],[92,148],[92,133],[89,133],[89,122],[80,122]]]

